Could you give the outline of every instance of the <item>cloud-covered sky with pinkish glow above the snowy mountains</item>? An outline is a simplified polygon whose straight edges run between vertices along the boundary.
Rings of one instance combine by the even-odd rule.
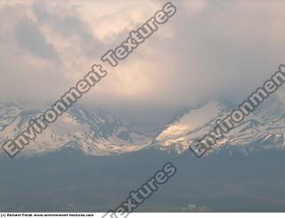
[[[1,100],[57,100],[165,3],[1,1]],[[102,63],[108,77],[80,101],[165,107],[240,101],[285,62],[284,1],[172,3],[175,16],[118,67]]]

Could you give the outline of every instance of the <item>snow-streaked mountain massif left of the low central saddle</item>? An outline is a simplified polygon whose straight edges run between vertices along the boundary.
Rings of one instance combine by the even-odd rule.
[[[10,113],[7,109],[2,112],[2,117]],[[0,119],[7,123],[0,131],[0,142],[16,137],[28,126],[29,119],[43,113],[44,109],[22,110],[14,113],[10,122]],[[76,146],[86,155],[114,155],[142,149],[150,142],[149,137],[130,131],[115,117],[75,105],[58,117],[56,122],[48,125],[20,154],[43,154],[66,146]]]

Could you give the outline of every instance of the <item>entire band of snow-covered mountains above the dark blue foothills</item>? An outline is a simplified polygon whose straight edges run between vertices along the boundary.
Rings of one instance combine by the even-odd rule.
[[[225,117],[235,108],[231,101],[208,101],[196,108],[183,109],[151,137],[102,110],[74,105],[20,154],[33,156],[72,147],[82,150],[85,155],[112,156],[153,147],[180,155],[191,141],[208,133],[217,118]],[[283,111],[277,99],[267,102],[226,134],[212,152],[222,148],[230,152],[238,149],[245,154],[260,149],[284,149]],[[39,117],[43,112],[44,109],[25,109],[15,102],[1,103],[0,142],[16,137],[28,126],[29,119]]]

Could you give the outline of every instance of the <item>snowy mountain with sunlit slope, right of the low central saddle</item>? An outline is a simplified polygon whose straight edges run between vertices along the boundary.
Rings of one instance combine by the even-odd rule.
[[[279,105],[276,103],[276,105]],[[197,109],[190,109],[183,116],[168,124],[155,138],[159,149],[175,150],[178,153],[189,148],[191,141],[200,139],[216,126],[216,119],[230,115],[236,106],[230,101],[209,101]],[[253,114],[216,143],[216,149],[240,147],[250,150],[283,148],[285,130],[284,112],[274,107],[269,113],[267,107],[260,107]]]

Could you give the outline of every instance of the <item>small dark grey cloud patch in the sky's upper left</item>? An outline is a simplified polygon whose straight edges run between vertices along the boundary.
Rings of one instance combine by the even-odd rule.
[[[49,44],[37,25],[27,18],[21,19],[16,25],[15,40],[22,48],[37,57],[59,61],[53,44]]]

